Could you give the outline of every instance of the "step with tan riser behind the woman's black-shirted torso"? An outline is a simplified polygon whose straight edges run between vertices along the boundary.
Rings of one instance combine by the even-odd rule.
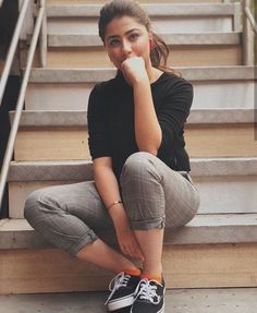
[[[254,109],[244,108],[193,109],[185,125],[189,155],[257,156],[254,116]],[[15,141],[14,159],[90,159],[87,137],[86,111],[24,111]]]

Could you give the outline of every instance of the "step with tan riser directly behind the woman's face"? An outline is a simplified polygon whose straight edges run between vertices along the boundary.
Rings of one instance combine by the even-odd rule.
[[[208,67],[243,64],[241,33],[162,34],[170,47],[168,64],[172,67]],[[27,50],[21,52],[21,64]],[[35,59],[35,67],[38,65]],[[98,35],[49,35],[48,68],[112,67]]]

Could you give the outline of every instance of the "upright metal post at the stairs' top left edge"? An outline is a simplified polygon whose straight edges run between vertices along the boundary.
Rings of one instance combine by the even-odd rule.
[[[47,12],[46,12],[46,0],[39,1],[39,8],[45,9],[41,31],[39,35],[39,62],[41,68],[47,65]]]

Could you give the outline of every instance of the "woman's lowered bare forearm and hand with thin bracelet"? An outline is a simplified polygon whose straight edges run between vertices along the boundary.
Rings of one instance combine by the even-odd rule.
[[[118,242],[122,252],[143,261],[143,253],[133,231],[130,228],[130,222],[123,204],[119,203],[112,205],[113,202],[121,200],[121,195],[117,178],[112,170],[111,157],[94,159],[94,172],[97,190],[113,221]]]

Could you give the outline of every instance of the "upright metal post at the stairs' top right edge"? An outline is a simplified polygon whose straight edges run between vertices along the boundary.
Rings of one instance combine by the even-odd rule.
[[[243,64],[254,65],[254,32],[245,13],[252,7],[252,0],[243,0]]]

